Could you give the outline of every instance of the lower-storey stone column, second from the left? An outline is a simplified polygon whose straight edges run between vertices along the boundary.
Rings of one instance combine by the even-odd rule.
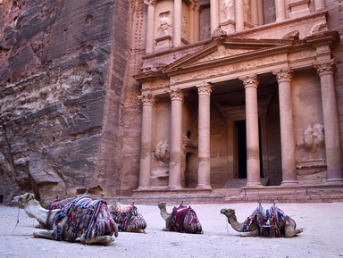
[[[180,89],[171,90],[171,150],[169,161],[169,188],[181,187],[182,102]]]

